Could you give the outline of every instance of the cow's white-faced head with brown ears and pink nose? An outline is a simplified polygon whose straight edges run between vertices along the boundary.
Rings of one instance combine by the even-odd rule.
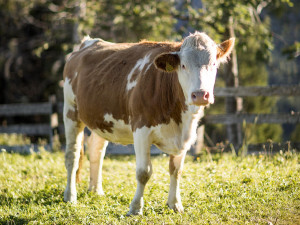
[[[217,45],[205,33],[196,32],[184,39],[179,52],[157,56],[155,65],[166,72],[177,71],[189,105],[213,104],[217,68],[226,62],[233,45],[234,38]]]

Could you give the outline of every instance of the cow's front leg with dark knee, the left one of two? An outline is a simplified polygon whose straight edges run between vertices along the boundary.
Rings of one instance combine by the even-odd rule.
[[[144,189],[152,174],[149,130],[146,128],[137,129],[133,134],[133,138],[136,155],[137,189],[127,215],[142,215],[144,206]]]

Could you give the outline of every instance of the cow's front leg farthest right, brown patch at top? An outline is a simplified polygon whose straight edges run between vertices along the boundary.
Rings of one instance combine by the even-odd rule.
[[[183,212],[181,204],[179,182],[183,169],[186,151],[180,155],[170,155],[169,172],[170,172],[170,190],[168,197],[168,206],[176,212]]]

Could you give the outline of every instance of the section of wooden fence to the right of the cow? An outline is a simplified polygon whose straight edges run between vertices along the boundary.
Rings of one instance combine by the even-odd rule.
[[[258,96],[300,96],[300,85],[295,86],[267,86],[267,87],[226,87],[226,88],[216,88],[216,97],[258,97]],[[217,115],[205,115],[200,121],[199,130],[201,131],[201,126],[205,124],[243,124],[255,123],[255,124],[298,124],[300,123],[300,112],[290,112],[288,114],[249,114],[249,113],[236,113],[236,114],[217,114]],[[203,129],[202,129],[203,132]],[[240,134],[243,136],[243,134]],[[201,142],[204,141],[203,134],[198,136],[198,146],[203,146]],[[299,137],[300,141],[300,137]],[[261,143],[256,145],[250,145],[250,151],[263,150],[267,145],[267,148],[272,148],[274,150],[278,149],[288,149],[296,148],[300,149],[300,143]],[[199,149],[196,150],[199,152]]]

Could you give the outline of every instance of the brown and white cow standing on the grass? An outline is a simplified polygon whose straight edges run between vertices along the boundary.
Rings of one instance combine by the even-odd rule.
[[[133,143],[137,189],[128,214],[142,214],[154,144],[170,155],[168,206],[183,212],[179,180],[184,158],[196,140],[201,111],[214,102],[217,68],[233,45],[232,38],[217,45],[199,32],[183,42],[84,40],[64,69],[68,172],[64,200],[77,199],[76,172],[87,126],[92,131],[89,190],[103,194],[101,173],[108,141]]]

